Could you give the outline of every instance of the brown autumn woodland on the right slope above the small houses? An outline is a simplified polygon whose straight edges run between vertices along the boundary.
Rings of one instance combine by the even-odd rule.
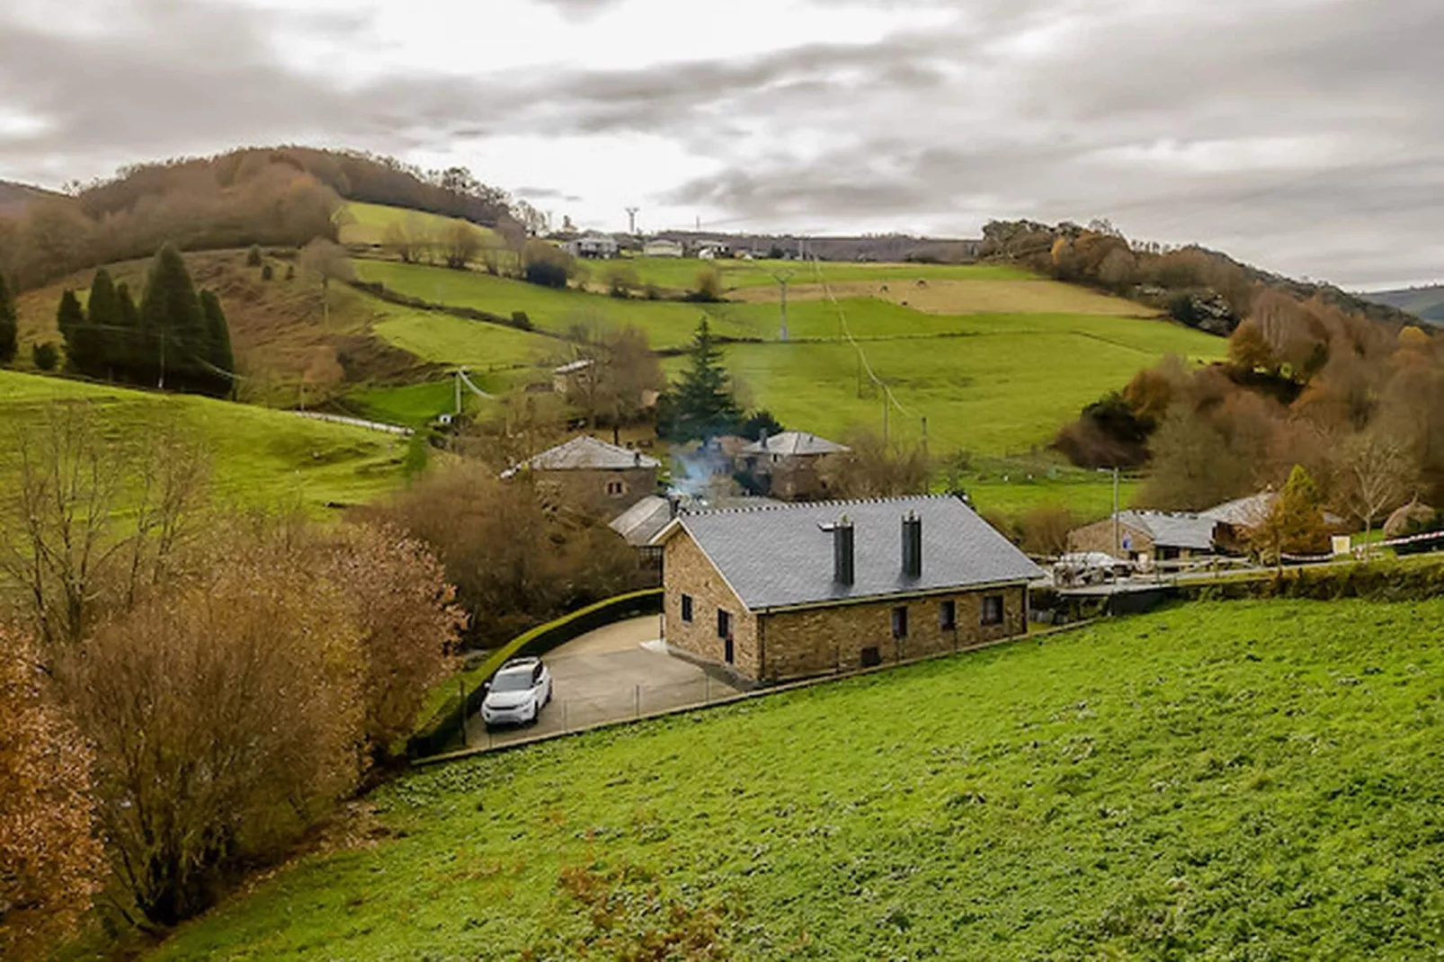
[[[1444,342],[1265,290],[1226,363],[1165,358],[1056,443],[1084,467],[1147,465],[1142,507],[1206,508],[1307,482],[1320,507],[1369,529],[1409,500],[1444,501]]]

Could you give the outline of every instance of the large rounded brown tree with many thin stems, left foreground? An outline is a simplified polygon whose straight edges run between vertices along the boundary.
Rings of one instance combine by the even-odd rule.
[[[95,747],[118,910],[169,927],[357,784],[364,650],[348,588],[286,537],[217,530],[205,571],[56,660]]]

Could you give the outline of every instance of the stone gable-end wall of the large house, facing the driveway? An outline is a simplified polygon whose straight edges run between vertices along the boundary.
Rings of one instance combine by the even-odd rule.
[[[708,662],[731,664],[745,677],[761,677],[757,617],[686,532],[679,532],[663,549],[661,586],[661,625],[667,644]],[[692,599],[690,620],[682,617],[683,597]],[[726,640],[718,633],[718,611],[731,617],[731,662]]]

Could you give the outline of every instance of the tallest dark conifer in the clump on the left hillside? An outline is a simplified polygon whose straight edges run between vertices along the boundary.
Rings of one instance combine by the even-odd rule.
[[[155,350],[156,384],[176,390],[202,387],[209,377],[205,312],[191,283],[191,272],[172,244],[156,253],[140,302],[140,325]],[[153,345],[153,347],[152,347]]]

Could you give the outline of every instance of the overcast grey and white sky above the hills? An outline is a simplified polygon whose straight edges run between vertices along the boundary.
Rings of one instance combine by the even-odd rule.
[[[601,228],[1108,217],[1392,286],[1444,279],[1441,49],[1440,0],[3,0],[0,178],[352,146]]]

